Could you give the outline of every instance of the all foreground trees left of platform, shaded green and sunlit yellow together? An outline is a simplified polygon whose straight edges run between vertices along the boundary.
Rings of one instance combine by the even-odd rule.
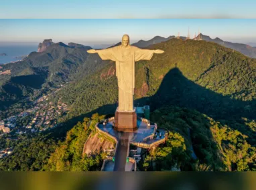
[[[0,159],[0,171],[99,171],[105,153],[87,157],[82,156],[82,149],[88,135],[95,133],[95,124],[104,117],[98,114],[84,117],[66,133],[64,140],[50,133],[23,136],[17,141],[1,139],[1,148],[15,149],[11,155]]]

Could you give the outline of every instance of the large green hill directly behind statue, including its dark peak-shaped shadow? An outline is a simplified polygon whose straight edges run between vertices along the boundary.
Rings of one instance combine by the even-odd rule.
[[[147,48],[165,53],[135,64],[135,99],[139,105],[149,103],[157,109],[174,104],[197,109],[214,119],[235,118],[242,113],[255,117],[255,59],[216,43],[192,39],[170,39]],[[68,85],[60,97],[70,105],[70,115],[107,104],[109,108],[104,110],[111,113],[117,106],[116,80],[115,64],[110,63]]]

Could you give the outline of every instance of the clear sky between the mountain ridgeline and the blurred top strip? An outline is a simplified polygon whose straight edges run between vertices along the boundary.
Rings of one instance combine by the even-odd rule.
[[[84,45],[113,44],[123,34],[131,43],[149,40],[156,35],[198,35],[198,30],[211,38],[225,41],[256,43],[256,19],[0,19],[0,43],[55,43]]]

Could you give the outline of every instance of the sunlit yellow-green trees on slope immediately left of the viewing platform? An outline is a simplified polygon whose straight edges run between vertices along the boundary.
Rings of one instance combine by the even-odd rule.
[[[84,117],[66,135],[66,140],[59,143],[52,153],[46,171],[100,171],[105,153],[97,153],[94,157],[82,156],[84,143],[90,133],[95,131],[95,124],[104,116],[92,115],[91,119]]]

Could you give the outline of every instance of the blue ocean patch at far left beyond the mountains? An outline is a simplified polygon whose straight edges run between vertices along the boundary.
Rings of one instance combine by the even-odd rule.
[[[0,54],[6,53],[6,56],[0,55],[0,65],[18,61],[22,58],[15,58],[29,55],[32,51],[38,51],[38,45],[0,45]]]

